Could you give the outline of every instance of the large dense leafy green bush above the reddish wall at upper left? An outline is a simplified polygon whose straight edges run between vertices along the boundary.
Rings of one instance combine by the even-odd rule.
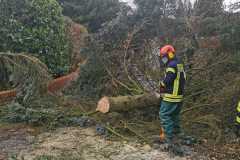
[[[69,44],[56,0],[0,1],[0,50],[35,54],[52,73],[65,72]]]

